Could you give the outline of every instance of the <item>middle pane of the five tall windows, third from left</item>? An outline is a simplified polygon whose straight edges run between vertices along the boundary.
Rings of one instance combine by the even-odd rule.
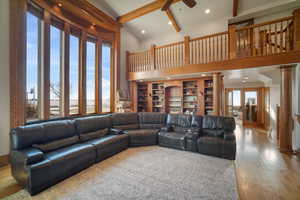
[[[70,36],[70,114],[79,113],[79,38]]]

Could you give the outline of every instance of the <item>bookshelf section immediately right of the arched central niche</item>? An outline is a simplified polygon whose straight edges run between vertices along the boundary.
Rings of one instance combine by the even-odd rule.
[[[198,85],[197,81],[183,81],[183,113],[195,114],[198,112]]]

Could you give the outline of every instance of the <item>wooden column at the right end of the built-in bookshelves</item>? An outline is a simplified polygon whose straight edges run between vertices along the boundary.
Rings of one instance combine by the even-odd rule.
[[[213,73],[213,114],[221,114],[221,73]]]

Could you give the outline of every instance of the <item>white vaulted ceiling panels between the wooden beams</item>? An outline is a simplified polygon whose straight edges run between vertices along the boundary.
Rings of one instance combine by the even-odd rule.
[[[114,17],[127,14],[135,9],[143,7],[154,1],[163,0],[89,0],[96,6],[105,9]],[[201,24],[209,24],[215,20],[223,20],[227,22],[233,16],[234,1],[238,2],[237,14],[245,13],[259,7],[270,6],[276,3],[291,3],[298,0],[196,0],[197,5],[194,8],[188,8],[183,2],[179,1],[171,5],[171,11],[175,20],[181,28],[179,34],[186,35],[197,26],[201,29]],[[210,9],[210,13],[206,14],[205,10]],[[162,35],[173,35],[176,33],[172,25],[168,25],[169,18],[165,12],[160,9],[148,13],[146,15],[135,18],[126,22],[124,26],[139,39],[145,40],[149,38],[157,38]],[[200,27],[200,28],[199,28]],[[205,29],[205,26],[203,26]],[[145,30],[145,34],[141,31]]]

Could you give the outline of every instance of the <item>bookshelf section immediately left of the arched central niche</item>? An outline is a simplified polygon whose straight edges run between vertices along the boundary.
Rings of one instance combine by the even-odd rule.
[[[164,83],[152,84],[152,112],[165,112]]]

